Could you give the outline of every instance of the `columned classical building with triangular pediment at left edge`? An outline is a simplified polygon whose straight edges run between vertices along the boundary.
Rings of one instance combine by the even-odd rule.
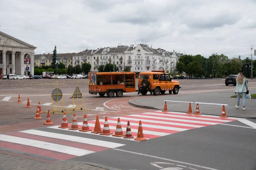
[[[34,74],[36,47],[0,31],[0,73]]]

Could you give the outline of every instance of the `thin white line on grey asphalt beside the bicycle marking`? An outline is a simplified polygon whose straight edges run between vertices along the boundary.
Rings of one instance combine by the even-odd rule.
[[[167,158],[162,158],[162,157],[158,157],[158,156],[132,152],[132,151],[128,151],[128,150],[122,150],[122,149],[117,149],[117,148],[114,148],[113,150],[118,150],[118,151],[127,152],[127,153],[133,153],[133,154],[136,154],[136,155],[147,156],[147,157],[156,158],[156,159],[162,159],[162,160],[166,160],[166,161],[172,161],[172,162],[176,162],[176,163],[180,163],[180,164],[186,164],[186,165],[190,165],[190,166],[194,166],[194,167],[201,167],[201,168],[204,168],[204,169],[207,169],[207,170],[217,170],[217,169],[214,169],[214,168],[204,167],[204,166],[197,165],[197,164],[190,164],[190,163],[183,162],[183,161],[176,161],[176,160],[173,160],[173,159],[167,159]]]

